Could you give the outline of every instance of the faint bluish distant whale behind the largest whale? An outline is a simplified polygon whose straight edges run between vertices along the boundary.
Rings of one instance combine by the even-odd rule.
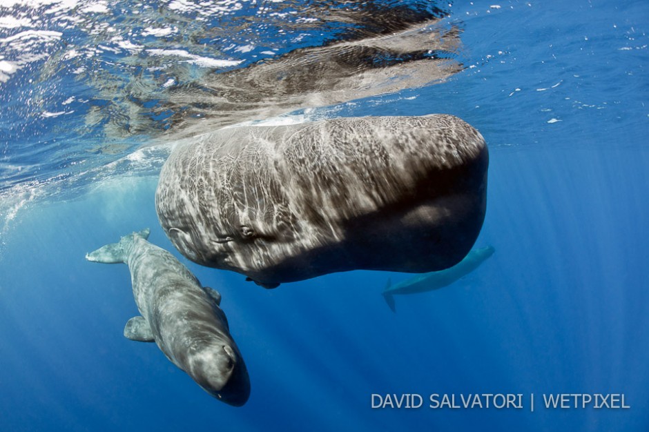
[[[494,248],[492,246],[474,249],[461,262],[451,268],[416,275],[396,285],[392,285],[391,280],[388,279],[387,286],[385,286],[385,290],[382,293],[383,298],[385,298],[385,302],[387,302],[392,312],[396,312],[394,295],[425,293],[449,286],[474,271],[492,255],[494,255]]]

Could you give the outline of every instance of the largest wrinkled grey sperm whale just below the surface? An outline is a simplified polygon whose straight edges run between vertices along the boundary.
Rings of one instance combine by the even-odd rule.
[[[176,146],[157,215],[173,245],[267,288],[355,269],[425,273],[483,224],[487,146],[452,115],[225,128]]]

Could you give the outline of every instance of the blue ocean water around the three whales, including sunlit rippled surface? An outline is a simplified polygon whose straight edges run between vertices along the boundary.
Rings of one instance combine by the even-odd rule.
[[[434,31],[459,42],[435,56],[461,70],[318,108],[297,101],[289,121],[465,119],[490,146],[476,246],[496,249],[452,286],[396,297],[396,313],[380,292],[410,275],[267,291],[180,257],[153,205],[165,134],[213,127],[216,108],[183,97],[264,56],[371,33],[339,18],[349,4],[0,3],[2,431],[649,430],[649,5],[384,3],[440,19]],[[228,123],[265,118],[244,108]],[[128,269],[84,255],[146,226],[222,293],[251,377],[242,408],[122,336],[137,315]],[[373,409],[374,393],[425,400]],[[523,408],[432,409],[433,393],[520,393]],[[630,408],[546,409],[556,393],[621,394]]]

